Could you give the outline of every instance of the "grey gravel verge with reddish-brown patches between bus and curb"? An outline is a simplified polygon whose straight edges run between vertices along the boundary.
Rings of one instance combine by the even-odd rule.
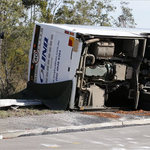
[[[140,111],[143,114],[143,111]],[[145,112],[146,113],[146,112]],[[116,118],[112,117],[116,116]],[[119,117],[117,117],[119,116]],[[139,115],[139,113],[127,112],[61,112],[56,114],[45,114],[25,117],[11,117],[0,119],[0,133],[14,130],[48,129],[53,127],[80,126],[96,123],[106,123],[125,120],[139,120],[150,118],[150,116]]]

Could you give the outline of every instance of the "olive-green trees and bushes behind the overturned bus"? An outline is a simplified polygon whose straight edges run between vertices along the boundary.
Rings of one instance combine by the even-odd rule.
[[[0,98],[26,87],[28,53],[35,22],[135,27],[132,9],[122,1],[113,18],[111,0],[1,0]]]

